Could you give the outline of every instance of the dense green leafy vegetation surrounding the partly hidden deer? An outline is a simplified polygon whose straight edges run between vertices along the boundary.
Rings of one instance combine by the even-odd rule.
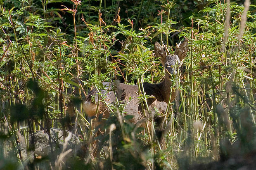
[[[249,160],[256,153],[255,4],[0,0],[0,169],[185,170],[234,156]],[[125,106],[119,104],[111,106],[101,155],[93,155],[93,120],[82,109],[91,88],[114,80],[161,82],[154,43],[173,54],[183,39],[190,51],[180,94],[165,115],[167,149],[159,148],[153,130],[120,119]],[[140,92],[141,101],[148,97]],[[50,128],[76,133],[81,153],[59,149],[24,158],[22,147],[35,149],[30,136],[47,129],[50,135]]]

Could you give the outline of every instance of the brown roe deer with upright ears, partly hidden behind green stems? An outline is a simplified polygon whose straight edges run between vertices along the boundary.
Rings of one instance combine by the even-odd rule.
[[[188,41],[185,40],[182,44],[177,46],[174,55],[166,55],[165,49],[158,42],[156,42],[154,48],[156,57],[160,57],[161,63],[165,66],[165,78],[159,84],[143,83],[143,87],[145,94],[150,96],[147,99],[149,111],[154,112],[154,110],[158,110],[159,113],[165,113],[167,103],[173,101],[178,94],[177,90],[176,92],[175,90],[172,90],[171,92],[172,82],[170,81],[170,78],[171,74],[177,74],[177,69],[181,69],[182,61],[187,55]],[[174,68],[175,64],[177,66],[176,69]],[[113,87],[109,82],[103,82],[103,85],[109,89]],[[100,117],[102,118],[109,117],[109,109],[106,104],[102,101],[97,103],[99,100],[98,94],[99,90],[97,88],[92,89],[83,102],[83,109],[85,113],[89,117],[96,117],[95,126],[102,124],[102,120],[99,120],[100,114]],[[114,103],[116,102],[116,99],[118,99],[119,103],[121,102],[125,104],[125,113],[123,113],[123,115],[133,115],[133,119],[131,120],[133,123],[138,123],[149,116],[147,111],[146,117],[142,113],[142,104],[138,99],[138,85],[116,83],[115,90],[107,90],[105,88],[100,91],[100,94],[104,96],[104,101],[107,103]],[[140,124],[140,126],[142,126],[142,124]]]

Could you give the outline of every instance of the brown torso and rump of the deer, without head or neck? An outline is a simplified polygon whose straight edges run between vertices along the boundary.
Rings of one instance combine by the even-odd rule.
[[[106,85],[105,88],[110,88],[108,82],[103,82],[103,85]],[[166,111],[167,103],[171,94],[171,82],[168,79],[165,79],[163,82],[159,84],[150,84],[143,83],[145,94],[151,96],[147,99],[147,105],[149,106],[150,111],[158,110],[159,113],[164,113]],[[132,115],[133,123],[137,123],[142,120],[144,115],[142,114],[142,106],[140,101],[138,100],[138,86],[137,85],[127,85],[124,83],[118,84],[118,89],[121,90],[121,95],[117,92],[117,96],[120,96],[119,103],[123,103],[126,105],[125,113],[123,115]],[[83,103],[83,108],[85,112],[90,116],[96,116],[97,102],[98,102],[98,91],[94,88],[91,90]],[[115,103],[116,95],[113,90],[101,90],[102,95],[105,97],[105,101],[107,103]],[[92,96],[95,96],[95,102],[92,101]],[[173,91],[171,95],[171,101],[175,99],[175,91]],[[130,100],[131,99],[131,100]],[[147,109],[145,108],[146,113]],[[103,114],[103,118],[109,117],[109,110],[105,106],[104,103],[99,103],[98,114]],[[148,116],[148,113],[147,115]]]

